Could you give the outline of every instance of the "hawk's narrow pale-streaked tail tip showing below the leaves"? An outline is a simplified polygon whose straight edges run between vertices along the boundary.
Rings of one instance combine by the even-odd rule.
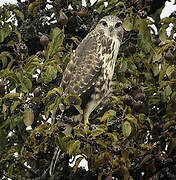
[[[50,168],[49,168],[50,176],[52,176],[54,174],[54,171],[55,171],[55,168],[56,168],[56,163],[58,161],[60,153],[61,153],[61,150],[60,150],[59,146],[57,146],[55,151],[54,151],[54,156],[52,158]]]

